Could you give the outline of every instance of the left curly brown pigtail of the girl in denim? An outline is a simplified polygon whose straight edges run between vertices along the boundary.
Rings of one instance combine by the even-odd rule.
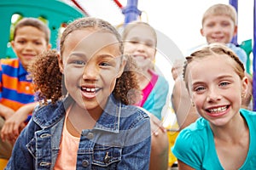
[[[45,104],[48,99],[55,103],[63,96],[62,94],[65,94],[62,93],[62,73],[59,69],[57,55],[58,52],[56,50],[49,50],[39,54],[28,69],[35,85],[36,100]]]

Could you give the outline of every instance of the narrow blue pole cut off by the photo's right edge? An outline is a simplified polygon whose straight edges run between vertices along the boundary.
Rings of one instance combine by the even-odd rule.
[[[253,111],[256,111],[256,0],[253,5]]]

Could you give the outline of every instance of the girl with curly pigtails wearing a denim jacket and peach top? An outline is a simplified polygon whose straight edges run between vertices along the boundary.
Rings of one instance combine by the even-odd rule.
[[[149,117],[130,105],[139,99],[134,69],[108,22],[69,24],[60,54],[44,53],[31,67],[42,105],[7,169],[148,169]]]

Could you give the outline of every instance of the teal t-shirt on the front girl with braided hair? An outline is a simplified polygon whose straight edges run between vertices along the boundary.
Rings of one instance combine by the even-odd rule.
[[[240,113],[245,118],[250,133],[247,159],[240,169],[253,170],[256,169],[256,113],[244,109]],[[178,134],[172,153],[178,160],[195,169],[224,169],[218,160],[212,129],[202,117]]]

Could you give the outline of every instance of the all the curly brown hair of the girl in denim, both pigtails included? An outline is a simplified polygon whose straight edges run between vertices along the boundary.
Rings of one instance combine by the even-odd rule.
[[[61,52],[63,52],[63,43],[67,34],[80,29],[81,26],[97,26],[97,29],[103,26],[104,30],[110,31],[118,37],[120,43],[119,49],[121,54],[123,54],[123,42],[120,39],[119,33],[115,31],[115,28],[104,20],[90,17],[76,20],[70,26],[67,26],[66,31],[63,32],[61,37]],[[137,65],[130,55],[123,55],[123,59],[126,59],[125,70],[121,77],[116,80],[113,95],[125,105],[134,105],[141,99],[141,91],[136,78]],[[49,50],[40,54],[29,68],[29,71],[31,72],[32,81],[35,84],[35,90],[38,92],[37,100],[41,101],[44,105],[47,104],[47,100],[49,99],[52,103],[55,103],[58,99],[67,95],[67,89],[65,88],[63,75],[58,63],[57,51]]]

